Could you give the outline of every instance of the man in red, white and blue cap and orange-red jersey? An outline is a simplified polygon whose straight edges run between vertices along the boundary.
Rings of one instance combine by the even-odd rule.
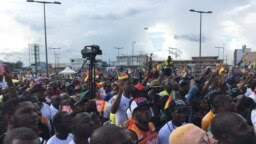
[[[153,123],[152,113],[146,98],[135,98],[130,104],[132,118],[128,121],[128,130],[138,144],[158,144],[158,136]]]

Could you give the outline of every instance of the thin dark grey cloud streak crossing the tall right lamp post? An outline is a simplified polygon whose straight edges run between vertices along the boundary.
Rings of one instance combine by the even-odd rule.
[[[181,35],[177,35],[176,34],[176,35],[174,35],[174,39],[199,42],[199,35],[197,35],[197,34],[181,34]],[[202,35],[201,40],[202,40],[202,42],[206,42],[208,39],[206,38],[205,35]]]

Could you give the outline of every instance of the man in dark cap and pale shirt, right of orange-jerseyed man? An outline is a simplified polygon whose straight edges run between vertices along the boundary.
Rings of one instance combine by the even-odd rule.
[[[167,109],[167,116],[170,116],[171,120],[158,132],[159,144],[168,144],[172,131],[185,124],[188,116],[187,104],[183,100],[172,100]]]

